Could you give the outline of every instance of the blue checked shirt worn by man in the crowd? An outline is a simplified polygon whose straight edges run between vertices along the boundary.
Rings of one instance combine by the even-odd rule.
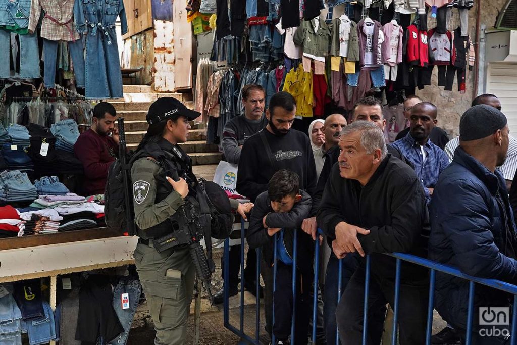
[[[449,165],[449,158],[443,149],[428,140],[423,145],[423,149],[427,152],[427,158],[423,161],[422,151],[420,145],[415,142],[411,133],[407,136],[392,143],[391,146],[396,147],[406,157],[407,160],[413,163],[415,172],[425,191],[425,201],[429,204],[431,202],[431,195],[428,188],[434,188],[438,182],[438,176]]]

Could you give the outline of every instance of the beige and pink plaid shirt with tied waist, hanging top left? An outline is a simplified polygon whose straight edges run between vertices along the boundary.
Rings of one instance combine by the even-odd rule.
[[[73,23],[73,4],[74,0],[32,0],[29,32],[36,31],[43,9],[45,17],[41,23],[41,37],[51,41],[79,39]]]

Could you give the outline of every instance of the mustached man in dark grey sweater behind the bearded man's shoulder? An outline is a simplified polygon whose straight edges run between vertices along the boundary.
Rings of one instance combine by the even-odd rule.
[[[257,84],[248,84],[242,87],[242,104],[244,105],[244,114],[235,116],[224,125],[222,148],[224,158],[227,162],[238,164],[242,145],[253,134],[260,131],[267,125],[267,118],[264,116],[265,104],[264,88]],[[237,286],[240,282],[240,245],[230,247],[229,257],[229,296],[235,296],[238,293]],[[251,294],[256,294],[256,252],[249,250],[246,258],[246,268],[244,269],[245,289]],[[221,258],[221,268],[224,262]],[[224,272],[224,269],[223,271]],[[224,278],[224,277],[223,277]],[[260,288],[260,296],[264,292]],[[224,291],[219,290],[214,295],[214,303],[223,303]]]

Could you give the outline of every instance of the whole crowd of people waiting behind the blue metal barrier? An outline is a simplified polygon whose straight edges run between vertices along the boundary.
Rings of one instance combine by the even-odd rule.
[[[342,114],[331,114],[323,125],[312,124],[308,137],[292,129],[296,102],[290,94],[272,96],[265,114],[258,116],[264,108],[264,91],[258,85],[248,85],[247,91],[242,99],[248,104],[246,114],[226,126],[222,146],[224,155],[238,163],[237,191],[255,203],[247,239],[250,248],[262,251],[266,330],[277,344],[308,342],[303,330],[308,330],[312,315],[317,228],[325,233],[322,246],[331,252],[321,284],[323,313],[318,314],[324,331],[318,334],[318,343],[334,343],[336,325],[341,344],[361,343],[366,254],[371,258],[367,331],[371,344],[381,343],[394,303],[396,260],[384,253],[410,253],[472,276],[517,283],[517,231],[511,204],[517,199],[517,188],[513,199],[511,192],[517,147],[512,147],[516,139],[509,136],[497,97],[477,97],[461,117],[460,137],[451,142],[436,126],[437,107],[409,97],[404,102],[409,126],[397,141],[386,145],[383,104],[373,97],[356,103],[351,123]],[[278,260],[273,263],[275,238]],[[338,259],[343,259],[339,303]],[[297,331],[290,339],[294,264]],[[407,262],[401,267],[399,341],[423,344],[429,271]],[[237,277],[235,271],[231,275]],[[253,281],[248,290],[253,292],[257,282],[254,275],[249,277]],[[231,294],[236,290],[237,283],[231,283]],[[436,275],[434,307],[448,325],[432,343],[464,341],[468,292],[468,281]],[[483,335],[478,311],[508,307],[510,297],[477,287],[474,343],[509,341],[505,332]],[[321,324],[320,318],[314,321]]]

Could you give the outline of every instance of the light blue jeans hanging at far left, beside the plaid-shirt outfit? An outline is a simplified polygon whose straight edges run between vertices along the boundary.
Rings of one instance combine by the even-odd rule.
[[[40,78],[38,36],[18,35],[20,38],[20,75],[21,79]],[[11,54],[11,33],[0,29],[0,78],[14,77],[9,68]]]

